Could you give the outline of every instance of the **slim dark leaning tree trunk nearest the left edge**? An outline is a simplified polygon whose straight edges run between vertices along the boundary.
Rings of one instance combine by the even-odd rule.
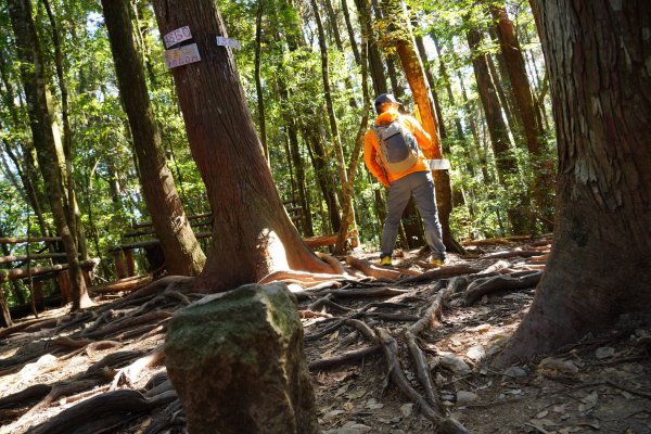
[[[21,77],[29,112],[34,143],[37,146],[38,161],[43,174],[54,225],[62,238],[68,263],[68,273],[73,286],[73,310],[90,306],[86,282],[79,266],[77,244],[64,210],[64,192],[59,171],[56,143],[52,131],[52,113],[49,106],[47,77],[40,43],[31,17],[29,0],[9,2],[12,27],[16,38],[16,49],[21,60]]]

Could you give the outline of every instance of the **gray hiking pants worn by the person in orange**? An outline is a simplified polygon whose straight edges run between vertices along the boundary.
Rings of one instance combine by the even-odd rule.
[[[391,256],[403,210],[413,194],[416,206],[420,212],[425,227],[425,240],[432,250],[433,256],[445,255],[445,245],[441,234],[441,222],[438,221],[438,209],[436,208],[436,193],[431,171],[414,171],[406,177],[392,182],[388,188],[388,204],[386,205],[386,221],[382,231],[381,255]]]

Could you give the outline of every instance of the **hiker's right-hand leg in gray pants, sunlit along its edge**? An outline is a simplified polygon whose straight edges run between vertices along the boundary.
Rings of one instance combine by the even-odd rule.
[[[432,256],[443,260],[445,259],[445,244],[443,244],[441,222],[438,221],[436,191],[432,174],[430,171],[419,171],[413,175],[418,175],[414,179],[418,184],[412,190],[413,200],[423,219],[425,240],[432,250]]]

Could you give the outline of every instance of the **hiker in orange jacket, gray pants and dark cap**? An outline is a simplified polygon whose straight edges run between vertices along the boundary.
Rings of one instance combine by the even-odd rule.
[[[380,265],[391,266],[403,210],[413,194],[432,251],[430,263],[445,264],[434,180],[421,150],[432,149],[432,138],[411,116],[398,113],[401,105],[391,93],[375,99],[378,119],[363,138],[363,161],[369,171],[388,188],[386,221],[382,231]]]

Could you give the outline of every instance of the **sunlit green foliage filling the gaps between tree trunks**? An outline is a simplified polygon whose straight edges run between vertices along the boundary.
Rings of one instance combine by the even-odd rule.
[[[54,74],[54,48],[52,27],[41,2],[34,3],[38,17],[38,31],[47,61],[49,87],[52,102],[61,125],[61,89]],[[255,89],[255,33],[258,1],[219,0],[219,8],[230,37],[241,41],[242,50],[235,51],[235,61],[242,87],[248,101],[254,122],[258,123],[257,93]],[[352,55],[350,40],[345,31],[341,5],[334,2],[341,20],[339,24],[344,52],[328,41],[328,60],[332,98],[346,162],[355,145],[361,118],[360,68]],[[0,2],[0,4],[2,4]],[[209,210],[205,189],[194,165],[186,127],[175,93],[171,74],[165,69],[162,55],[163,43],[157,31],[156,21],[149,2],[138,0],[132,8],[136,40],[142,54],[146,72],[150,98],[162,133],[168,164],[175,177],[177,189],[189,214]],[[111,279],[111,259],[107,250],[123,242],[122,234],[129,231],[132,222],[148,220],[148,210],[140,192],[137,167],[128,122],[122,107],[113,69],[113,58],[103,26],[99,2],[82,0],[51,0],[55,23],[60,33],[63,51],[64,79],[68,90],[71,107],[72,141],[74,146],[74,178],[81,208],[82,224],[89,239],[91,256],[102,257],[104,278]],[[510,228],[507,210],[519,207],[527,213],[552,216],[553,208],[529,209],[531,205],[518,203],[520,193],[531,193],[531,188],[539,177],[553,176],[554,138],[551,120],[548,136],[545,137],[546,151],[541,158],[551,162],[548,173],[534,173],[537,167],[531,156],[522,151],[523,138],[512,135],[513,150],[520,171],[506,184],[499,187],[495,175],[494,157],[488,145],[490,138],[484,127],[481,100],[474,85],[470,50],[465,42],[467,30],[473,26],[487,31],[492,25],[485,2],[471,0],[429,0],[407,1],[407,7],[416,16],[413,31],[424,38],[429,66],[435,77],[432,84],[443,106],[443,122],[448,138],[444,148],[451,161],[451,179],[456,197],[463,197],[455,204],[451,215],[451,229],[455,237],[484,238],[508,233]],[[356,9],[348,2],[353,26],[359,40]],[[542,55],[536,38],[535,23],[526,2],[507,3],[518,29],[523,49],[527,50],[527,67],[534,91],[540,94],[544,89]],[[326,16],[324,11],[321,11]],[[373,26],[384,37],[385,54],[391,51],[391,37],[386,22],[373,15]],[[328,21],[324,20],[327,23]],[[328,27],[328,23],[326,24]],[[405,26],[406,28],[406,26]],[[405,28],[400,30],[404,31]],[[20,169],[27,174],[27,156],[31,149],[31,133],[26,116],[25,98],[18,77],[15,48],[11,36],[11,24],[7,8],[0,8],[0,54],[2,55],[2,81],[0,82],[0,141],[2,146],[11,145],[16,151]],[[328,126],[324,92],[321,81],[321,62],[316,25],[309,2],[270,0],[264,2],[261,21],[261,64],[260,82],[265,106],[266,136],[269,145],[270,167],[283,200],[296,197],[296,167],[289,154],[289,124],[295,122],[298,132],[299,157],[303,162],[308,191],[309,212],[317,233],[332,231],[327,213],[323,193],[317,181],[309,148],[308,132],[314,132],[326,149],[328,177],[335,180],[337,167]],[[396,30],[396,29],[394,29]],[[332,31],[327,28],[329,35]],[[404,36],[404,35],[403,35]],[[432,37],[436,37],[441,52],[434,48]],[[499,47],[490,38],[485,38],[481,53],[495,55]],[[441,69],[444,65],[447,75]],[[534,73],[539,76],[535,77]],[[398,82],[406,84],[398,74]],[[449,92],[448,92],[449,88]],[[13,91],[13,97],[10,94]],[[407,91],[406,101],[409,100]],[[468,99],[468,100],[467,100]],[[549,113],[549,100],[545,100]],[[355,104],[352,105],[352,102]],[[372,118],[372,117],[371,117]],[[462,135],[457,132],[456,122]],[[0,148],[4,152],[5,148]],[[18,179],[18,167],[9,164],[9,170]],[[5,169],[7,170],[7,169]],[[7,175],[7,174],[5,174]],[[31,176],[31,178],[37,178]],[[33,179],[42,195],[39,179]],[[339,181],[333,182],[339,192]],[[356,219],[362,242],[379,243],[382,221],[375,201],[375,192],[384,189],[366,171],[363,163],[357,167],[355,182]],[[525,196],[526,196],[525,194]],[[551,196],[553,192],[548,192]],[[18,197],[15,200],[14,197]],[[3,233],[22,235],[27,231],[26,215],[28,201],[24,189],[16,190],[7,176],[0,175],[1,229]],[[553,204],[550,197],[549,203]],[[5,205],[7,204],[7,205]],[[47,212],[47,201],[41,204]],[[35,220],[34,220],[35,221]],[[37,226],[31,224],[36,233]],[[542,229],[541,227],[537,229]]]

